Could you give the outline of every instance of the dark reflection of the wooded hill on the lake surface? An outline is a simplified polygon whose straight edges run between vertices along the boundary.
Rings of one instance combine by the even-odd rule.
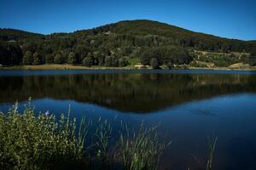
[[[246,75],[96,74],[0,77],[0,102],[73,99],[119,111],[149,112],[221,94],[256,93]]]

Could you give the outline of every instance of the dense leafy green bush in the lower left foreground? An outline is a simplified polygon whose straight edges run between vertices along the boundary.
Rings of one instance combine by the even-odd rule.
[[[82,121],[80,128],[83,126]],[[36,116],[31,107],[20,114],[17,105],[0,115],[0,167],[3,169],[59,169],[82,161],[84,135],[75,134],[76,119]],[[82,129],[81,129],[82,130]],[[82,131],[80,131],[82,132]]]

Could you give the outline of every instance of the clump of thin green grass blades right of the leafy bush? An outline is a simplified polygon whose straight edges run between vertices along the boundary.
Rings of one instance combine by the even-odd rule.
[[[133,135],[125,127],[126,133],[120,135],[121,156],[125,169],[157,169],[160,156],[166,144],[160,142],[155,127],[145,128],[143,123],[137,133]]]

